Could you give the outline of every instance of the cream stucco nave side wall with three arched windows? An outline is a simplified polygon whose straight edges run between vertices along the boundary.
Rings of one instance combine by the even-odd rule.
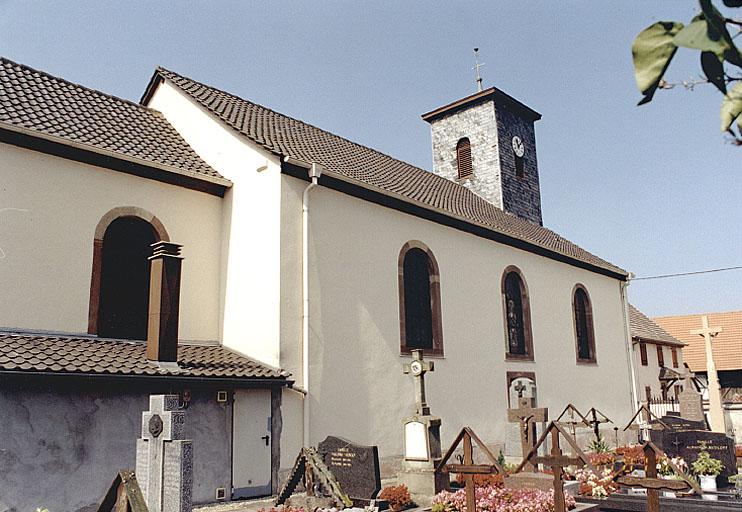
[[[294,190],[284,200],[304,185],[283,182]],[[444,444],[464,425],[485,442],[508,437],[506,371],[535,372],[539,405],[552,417],[568,402],[595,406],[617,423],[631,417],[619,281],[324,187],[311,194],[312,444],[333,434],[378,444],[382,457],[402,453],[401,422],[414,398],[402,373],[408,357],[399,348],[397,261],[410,240],[427,244],[440,267],[445,357],[426,386]],[[500,282],[512,264],[530,294],[534,362],[505,361]],[[282,283],[300,278],[296,269],[284,271]],[[578,282],[593,304],[597,365],[575,362],[571,293]]]

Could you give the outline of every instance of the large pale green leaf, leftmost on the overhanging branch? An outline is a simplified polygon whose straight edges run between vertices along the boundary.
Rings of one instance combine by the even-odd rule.
[[[634,78],[636,85],[644,95],[639,105],[652,101],[662,75],[670,65],[678,47],[673,38],[683,28],[682,23],[675,21],[658,21],[642,30],[634,44],[631,53],[634,58]]]

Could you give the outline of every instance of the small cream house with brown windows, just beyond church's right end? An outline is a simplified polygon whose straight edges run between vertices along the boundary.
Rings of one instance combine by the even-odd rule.
[[[682,389],[683,347],[644,313],[629,305],[631,342],[634,347],[636,388],[639,399],[677,398]]]

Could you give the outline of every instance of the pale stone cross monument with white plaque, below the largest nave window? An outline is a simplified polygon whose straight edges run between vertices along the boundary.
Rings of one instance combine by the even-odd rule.
[[[441,420],[430,414],[425,397],[425,374],[433,370],[433,362],[423,359],[422,350],[413,350],[412,361],[404,365],[404,373],[411,374],[415,382],[415,413],[404,420],[405,454],[398,480],[419,505],[430,504],[434,495],[448,487],[446,475],[435,472],[441,460]]]

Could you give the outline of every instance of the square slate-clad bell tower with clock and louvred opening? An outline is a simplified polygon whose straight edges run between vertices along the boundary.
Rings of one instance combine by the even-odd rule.
[[[430,123],[435,174],[543,224],[534,131],[541,114],[490,87],[422,118]]]

